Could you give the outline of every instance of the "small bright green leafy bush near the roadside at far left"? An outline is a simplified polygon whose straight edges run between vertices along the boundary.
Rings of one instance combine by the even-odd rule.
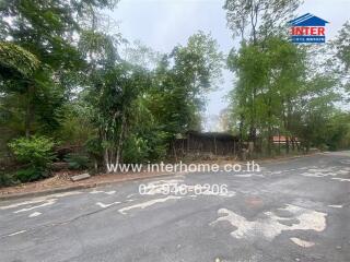
[[[24,168],[16,172],[21,182],[37,180],[49,174],[49,166],[55,159],[54,144],[54,141],[46,136],[20,138],[9,143],[16,160],[24,165]]]

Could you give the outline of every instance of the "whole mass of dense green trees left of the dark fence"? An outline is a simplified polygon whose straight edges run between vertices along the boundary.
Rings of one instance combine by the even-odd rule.
[[[4,144],[20,135],[49,135],[62,146],[80,146],[104,169],[162,159],[176,135],[201,128],[203,95],[215,87],[223,61],[215,40],[199,32],[171,53],[140,43],[122,52],[125,39],[106,29],[98,14],[115,2],[1,4]],[[71,168],[90,166],[79,156],[63,160]]]

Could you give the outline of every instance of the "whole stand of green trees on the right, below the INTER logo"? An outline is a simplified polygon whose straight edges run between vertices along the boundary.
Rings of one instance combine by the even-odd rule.
[[[295,138],[301,142],[296,143],[299,150],[348,147],[350,115],[339,109],[339,103],[345,103],[340,87],[346,71],[339,70],[340,63],[334,59],[337,56],[347,70],[348,25],[334,46],[314,50],[290,43],[285,35],[284,22],[298,1],[238,2],[226,0],[224,7],[230,28],[241,36],[240,49],[232,49],[228,58],[236,81],[226,128],[243,141],[252,141],[254,153],[260,154],[275,153],[272,136],[279,135],[288,138],[287,153]],[[328,59],[315,56],[332,49],[337,52]]]

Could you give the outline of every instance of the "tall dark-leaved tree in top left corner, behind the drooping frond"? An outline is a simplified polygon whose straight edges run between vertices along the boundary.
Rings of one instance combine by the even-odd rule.
[[[59,108],[67,88],[73,87],[72,71],[83,67],[77,49],[80,17],[91,15],[94,9],[112,7],[109,0],[14,0],[1,1],[0,39],[11,41],[33,53],[39,61],[36,72],[26,82],[19,82],[21,91],[2,85],[10,96],[25,97],[23,107],[24,129],[28,136],[34,123],[48,129],[57,127]]]

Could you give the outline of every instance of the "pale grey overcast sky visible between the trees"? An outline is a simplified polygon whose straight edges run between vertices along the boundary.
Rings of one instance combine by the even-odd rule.
[[[119,32],[129,41],[139,39],[161,52],[170,52],[176,44],[199,29],[211,33],[228,53],[236,43],[226,28],[224,0],[120,0],[112,17],[118,21]],[[337,34],[350,20],[350,0],[305,0],[296,14],[312,13],[329,22],[326,38]],[[209,94],[206,129],[217,127],[215,119],[226,107],[224,96],[232,88],[232,74],[224,72],[224,83]]]

